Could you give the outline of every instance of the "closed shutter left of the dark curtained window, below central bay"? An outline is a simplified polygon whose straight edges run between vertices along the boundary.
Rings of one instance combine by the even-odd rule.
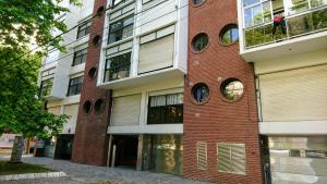
[[[140,106],[141,94],[113,98],[111,125],[138,125]]]

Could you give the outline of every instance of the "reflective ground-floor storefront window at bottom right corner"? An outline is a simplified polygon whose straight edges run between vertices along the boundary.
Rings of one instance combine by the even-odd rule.
[[[327,183],[327,136],[266,136],[267,184]]]

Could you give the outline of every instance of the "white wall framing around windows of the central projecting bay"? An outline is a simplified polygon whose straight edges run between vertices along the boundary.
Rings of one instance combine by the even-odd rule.
[[[129,1],[132,2],[132,1]],[[105,73],[105,63],[106,63],[106,49],[114,47],[117,45],[123,44],[125,41],[133,41],[132,56],[131,56],[131,71],[130,77],[137,77],[137,65],[138,65],[138,51],[140,44],[138,39],[141,36],[154,33],[160,28],[167,27],[169,25],[175,25],[174,30],[174,59],[173,68],[178,69],[183,73],[186,73],[186,63],[187,63],[187,0],[154,0],[148,3],[142,4],[142,0],[136,0],[135,3],[125,3],[125,5],[120,5],[114,8],[112,11],[108,11],[106,16],[105,34],[102,37],[102,51],[99,64],[99,75],[98,75],[98,86],[102,86],[104,73]],[[116,22],[120,17],[125,15],[120,15],[112,19],[110,14],[120,14],[121,10],[124,10],[125,7],[134,7],[134,33],[130,38],[124,40],[107,45],[108,42],[108,32],[110,22]],[[130,9],[129,9],[130,10]],[[157,74],[158,72],[153,72]],[[117,81],[114,82],[117,83]]]

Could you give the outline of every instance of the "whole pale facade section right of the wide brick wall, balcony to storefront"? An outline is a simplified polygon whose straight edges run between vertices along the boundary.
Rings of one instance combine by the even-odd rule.
[[[256,76],[267,182],[327,183],[327,1],[238,4],[240,54]]]

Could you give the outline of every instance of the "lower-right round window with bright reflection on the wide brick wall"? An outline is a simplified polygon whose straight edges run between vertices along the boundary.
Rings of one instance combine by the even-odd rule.
[[[244,94],[244,85],[237,78],[228,78],[221,84],[220,91],[228,101],[238,101]]]

